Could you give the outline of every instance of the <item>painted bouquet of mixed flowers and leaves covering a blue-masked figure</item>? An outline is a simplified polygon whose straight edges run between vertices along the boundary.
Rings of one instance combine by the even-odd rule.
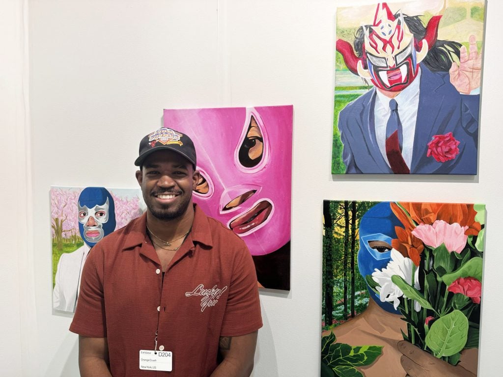
[[[485,207],[391,203],[391,260],[366,280],[407,322],[403,338],[452,365],[477,348]]]

